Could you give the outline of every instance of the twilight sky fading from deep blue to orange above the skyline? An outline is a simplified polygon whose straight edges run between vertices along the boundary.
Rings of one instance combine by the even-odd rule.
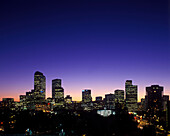
[[[61,78],[81,100],[124,89],[125,81],[164,86],[170,95],[168,0],[0,1],[0,100],[33,89],[35,71]],[[140,100],[139,100],[140,101]]]

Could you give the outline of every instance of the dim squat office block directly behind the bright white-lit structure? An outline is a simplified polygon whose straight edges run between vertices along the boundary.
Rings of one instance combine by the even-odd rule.
[[[115,109],[115,95],[105,94],[105,105],[107,109]]]

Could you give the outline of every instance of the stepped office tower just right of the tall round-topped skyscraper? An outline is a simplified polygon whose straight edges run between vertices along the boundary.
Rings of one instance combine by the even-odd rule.
[[[61,79],[52,80],[52,98],[57,106],[64,105],[64,89],[61,87]]]

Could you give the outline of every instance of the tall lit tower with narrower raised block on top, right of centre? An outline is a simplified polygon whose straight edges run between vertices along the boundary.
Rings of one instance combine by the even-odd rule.
[[[132,80],[127,80],[125,83],[125,91],[128,111],[137,111],[137,85],[133,85]]]

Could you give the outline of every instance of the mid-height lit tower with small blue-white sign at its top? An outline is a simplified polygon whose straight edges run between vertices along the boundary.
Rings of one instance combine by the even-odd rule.
[[[92,101],[91,90],[85,89],[82,91],[82,102],[89,103]]]

